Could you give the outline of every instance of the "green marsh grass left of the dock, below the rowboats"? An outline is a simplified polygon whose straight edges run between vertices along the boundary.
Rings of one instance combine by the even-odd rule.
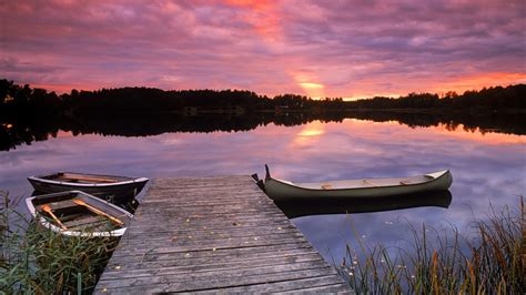
[[[118,238],[61,235],[17,211],[21,199],[0,195],[0,293],[91,292]]]

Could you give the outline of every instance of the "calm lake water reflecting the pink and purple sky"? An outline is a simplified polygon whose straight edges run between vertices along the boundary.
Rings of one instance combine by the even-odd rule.
[[[54,139],[0,152],[0,187],[11,195],[30,195],[26,177],[53,171],[151,179],[262,175],[264,163],[270,164],[274,176],[299,182],[452,171],[447,208],[423,206],[293,218],[326,260],[338,262],[345,244],[354,244],[356,236],[396,245],[408,238],[408,222],[416,226],[425,223],[437,231],[447,231],[452,223],[467,232],[474,218],[486,216],[489,205],[495,210],[517,206],[517,195],[524,195],[526,186],[526,135],[464,131],[462,125],[453,130],[443,125],[408,128],[395,121],[354,119],[145,138],[59,132]]]

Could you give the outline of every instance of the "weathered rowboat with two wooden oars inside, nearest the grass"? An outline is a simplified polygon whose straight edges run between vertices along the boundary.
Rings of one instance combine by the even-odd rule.
[[[93,195],[70,191],[26,199],[39,223],[68,236],[121,236],[133,215]]]

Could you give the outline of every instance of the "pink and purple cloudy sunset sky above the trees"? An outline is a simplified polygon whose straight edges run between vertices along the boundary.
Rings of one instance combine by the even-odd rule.
[[[526,2],[0,1],[0,79],[346,99],[526,83]]]

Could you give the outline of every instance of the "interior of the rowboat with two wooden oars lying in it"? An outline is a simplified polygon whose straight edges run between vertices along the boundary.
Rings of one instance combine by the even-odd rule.
[[[64,231],[109,232],[128,224],[125,214],[88,202],[82,195],[70,194],[47,200],[34,199],[33,205],[40,216]]]

